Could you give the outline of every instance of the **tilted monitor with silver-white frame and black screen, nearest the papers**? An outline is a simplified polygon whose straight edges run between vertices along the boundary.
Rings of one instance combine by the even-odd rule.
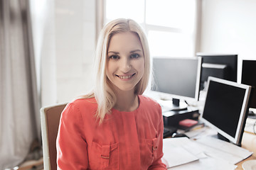
[[[201,120],[235,145],[240,145],[248,112],[251,86],[208,78]]]

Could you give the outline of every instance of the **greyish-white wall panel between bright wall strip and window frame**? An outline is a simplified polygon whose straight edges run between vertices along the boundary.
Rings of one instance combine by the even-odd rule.
[[[92,89],[95,1],[55,0],[57,102]]]

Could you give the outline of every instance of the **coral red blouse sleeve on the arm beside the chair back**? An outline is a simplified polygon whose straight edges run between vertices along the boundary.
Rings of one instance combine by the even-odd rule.
[[[87,169],[87,142],[82,127],[79,109],[69,103],[60,117],[56,140],[58,169]]]

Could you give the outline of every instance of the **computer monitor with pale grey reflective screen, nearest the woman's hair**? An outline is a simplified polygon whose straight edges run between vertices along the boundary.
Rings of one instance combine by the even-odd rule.
[[[171,96],[174,109],[180,99],[198,100],[201,57],[155,57],[153,70],[152,90]]]

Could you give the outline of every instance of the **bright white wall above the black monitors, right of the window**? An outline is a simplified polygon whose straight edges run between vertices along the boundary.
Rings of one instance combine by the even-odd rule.
[[[202,0],[201,51],[256,60],[256,1]],[[238,72],[240,81],[240,72]]]

